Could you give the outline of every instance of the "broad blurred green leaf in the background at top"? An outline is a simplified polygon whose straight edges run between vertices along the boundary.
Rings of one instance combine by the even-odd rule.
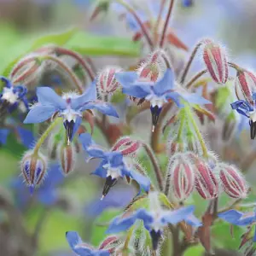
[[[122,55],[137,56],[141,44],[127,38],[99,37],[87,32],[77,32],[64,45],[81,55]]]

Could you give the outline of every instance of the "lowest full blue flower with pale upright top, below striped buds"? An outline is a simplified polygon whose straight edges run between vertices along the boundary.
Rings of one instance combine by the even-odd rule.
[[[107,233],[112,234],[129,230],[137,219],[143,220],[145,229],[150,233],[153,249],[156,250],[160,237],[163,235],[163,230],[168,224],[177,224],[184,220],[192,226],[201,226],[201,222],[193,214],[194,206],[181,207],[170,211],[161,207],[157,192],[150,193],[148,197],[149,211],[140,209],[130,217],[122,218],[119,216],[114,218],[108,227]]]

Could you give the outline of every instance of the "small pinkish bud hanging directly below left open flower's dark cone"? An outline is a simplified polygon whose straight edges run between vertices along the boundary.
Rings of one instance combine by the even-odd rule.
[[[76,163],[76,148],[71,145],[62,144],[59,149],[59,160],[61,163],[62,172],[66,175],[72,172]]]

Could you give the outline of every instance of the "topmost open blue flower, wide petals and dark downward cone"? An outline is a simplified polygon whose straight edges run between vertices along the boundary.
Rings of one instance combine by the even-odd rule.
[[[182,100],[199,105],[211,103],[202,96],[196,93],[189,93],[182,87],[177,86],[174,80],[174,73],[169,68],[163,78],[155,83],[140,79],[136,72],[116,73],[115,77],[122,84],[123,93],[137,98],[145,98],[151,103],[153,131],[154,126],[157,125],[163,105],[170,100],[175,102],[179,108],[183,107]]]

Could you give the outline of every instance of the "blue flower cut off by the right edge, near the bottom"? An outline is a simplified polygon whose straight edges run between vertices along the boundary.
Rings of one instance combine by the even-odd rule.
[[[222,218],[230,224],[237,226],[250,226],[256,224],[256,210],[254,212],[239,212],[230,210],[227,212],[218,213],[218,218]],[[253,236],[253,241],[256,241],[256,230]]]

